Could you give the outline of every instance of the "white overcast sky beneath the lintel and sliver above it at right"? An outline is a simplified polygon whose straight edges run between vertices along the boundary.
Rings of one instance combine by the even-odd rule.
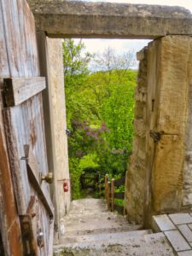
[[[90,2],[90,1],[89,1]],[[91,2],[111,2],[111,3],[145,3],[145,4],[160,4],[170,6],[182,6],[189,9],[192,13],[192,0],[110,0]],[[129,49],[134,49],[136,52],[143,49],[148,44],[149,40],[143,39],[84,39],[87,51],[90,53],[102,52],[104,49],[110,47],[115,49],[117,53],[122,53]]]

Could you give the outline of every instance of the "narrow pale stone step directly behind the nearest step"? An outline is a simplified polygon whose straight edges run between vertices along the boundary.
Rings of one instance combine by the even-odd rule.
[[[144,236],[153,233],[152,230],[137,230],[137,231],[124,231],[116,233],[99,233],[94,235],[83,235],[83,236],[61,236],[61,244],[67,246],[68,244],[77,242],[87,242],[87,241],[105,241],[112,239],[127,239],[129,237]]]

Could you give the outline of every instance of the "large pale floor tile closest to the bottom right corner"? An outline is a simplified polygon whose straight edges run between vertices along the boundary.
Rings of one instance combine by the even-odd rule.
[[[187,241],[185,241],[185,239],[178,230],[165,231],[164,234],[171,242],[172,247],[175,249],[176,252],[191,249]]]

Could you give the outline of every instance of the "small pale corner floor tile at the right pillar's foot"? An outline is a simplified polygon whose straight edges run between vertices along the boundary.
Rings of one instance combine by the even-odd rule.
[[[176,230],[172,221],[166,214],[153,216],[154,223],[157,224],[160,231]]]

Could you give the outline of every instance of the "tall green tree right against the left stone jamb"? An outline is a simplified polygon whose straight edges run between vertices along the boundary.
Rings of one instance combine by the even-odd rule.
[[[84,108],[84,98],[79,97],[79,95],[89,74],[88,66],[91,55],[88,52],[82,54],[85,49],[82,40],[75,44],[73,39],[67,38],[63,41],[62,48],[67,128],[71,131],[71,136],[68,139],[69,169],[72,177],[73,198],[78,198],[79,178],[82,173],[79,162],[83,157],[84,148],[86,148],[80,124],[86,118],[86,115],[89,115],[87,108]]]

